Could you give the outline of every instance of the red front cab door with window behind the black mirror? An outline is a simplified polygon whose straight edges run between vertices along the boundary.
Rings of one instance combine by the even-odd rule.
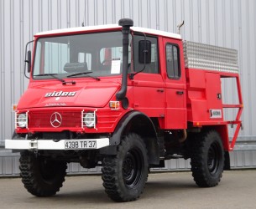
[[[138,61],[139,41],[144,41],[144,34],[133,36],[134,71],[136,74],[133,84],[133,108],[149,117],[161,118],[165,116],[165,82],[159,71],[159,42],[154,36],[146,36],[151,43],[151,60],[148,64]]]

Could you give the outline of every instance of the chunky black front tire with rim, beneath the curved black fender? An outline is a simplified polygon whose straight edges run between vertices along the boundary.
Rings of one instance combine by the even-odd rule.
[[[113,201],[135,201],[148,180],[146,145],[139,135],[129,134],[118,145],[117,155],[103,160],[102,180]]]

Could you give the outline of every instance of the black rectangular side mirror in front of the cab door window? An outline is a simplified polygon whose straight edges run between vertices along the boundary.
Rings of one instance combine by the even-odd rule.
[[[140,40],[138,42],[138,62],[140,64],[151,63],[151,42]]]

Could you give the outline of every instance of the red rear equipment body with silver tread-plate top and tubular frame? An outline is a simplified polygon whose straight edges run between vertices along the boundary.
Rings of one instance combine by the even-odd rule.
[[[224,140],[225,150],[233,150],[242,125],[240,117],[243,99],[238,72],[238,52],[203,43],[184,41],[185,74],[187,84],[188,121],[192,126],[220,125],[217,127]],[[238,104],[223,104],[222,79],[235,79]],[[236,118],[225,120],[223,110],[237,109]],[[232,141],[228,139],[228,125],[235,125]]]

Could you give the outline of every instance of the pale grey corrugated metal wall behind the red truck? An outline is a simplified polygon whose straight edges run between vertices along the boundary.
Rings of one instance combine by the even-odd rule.
[[[118,23],[176,32],[182,37],[238,49],[243,89],[243,127],[239,140],[256,140],[256,1],[255,0],[0,0],[0,145],[11,138],[12,104],[28,85],[24,47],[33,34],[56,28]],[[237,101],[235,85],[223,84],[226,101]],[[227,113],[233,117],[234,110]]]

